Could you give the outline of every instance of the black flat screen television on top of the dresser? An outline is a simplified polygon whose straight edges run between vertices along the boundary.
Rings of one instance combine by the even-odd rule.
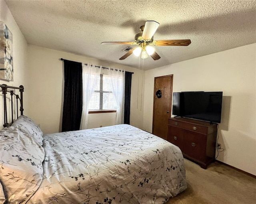
[[[174,92],[172,114],[220,123],[222,92]]]

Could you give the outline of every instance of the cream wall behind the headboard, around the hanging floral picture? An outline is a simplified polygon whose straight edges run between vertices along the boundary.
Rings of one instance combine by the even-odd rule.
[[[0,21],[4,22],[6,26],[10,29],[13,35],[13,69],[14,69],[14,81],[0,80],[0,84],[7,84],[9,86],[28,86],[27,72],[26,72],[26,56],[27,56],[27,41],[21,33],[19,27],[17,26],[12,14],[6,3],[0,0]],[[16,92],[17,94],[19,91]],[[2,92],[0,94],[2,98]],[[27,93],[24,92],[24,109],[28,109],[28,98]],[[2,124],[4,123],[3,114],[3,104],[0,100],[0,129],[2,129]]]

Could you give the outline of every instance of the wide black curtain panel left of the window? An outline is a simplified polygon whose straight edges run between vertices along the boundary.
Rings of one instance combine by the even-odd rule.
[[[62,132],[79,130],[82,116],[82,63],[64,60]]]

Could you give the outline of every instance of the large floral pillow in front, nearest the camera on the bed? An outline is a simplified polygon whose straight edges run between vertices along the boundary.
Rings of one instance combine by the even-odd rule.
[[[6,203],[26,203],[43,178],[44,148],[15,127],[0,131],[0,181]],[[0,197],[1,198],[1,197]]]

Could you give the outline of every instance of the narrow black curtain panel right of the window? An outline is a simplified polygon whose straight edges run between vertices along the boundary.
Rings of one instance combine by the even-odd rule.
[[[130,125],[131,85],[132,85],[132,73],[125,72],[124,124],[128,124],[128,125]]]

